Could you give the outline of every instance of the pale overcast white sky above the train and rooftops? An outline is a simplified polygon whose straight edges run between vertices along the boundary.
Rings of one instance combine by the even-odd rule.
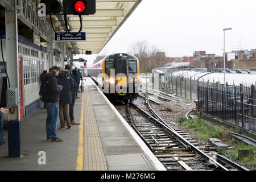
[[[101,54],[129,52],[131,44],[146,40],[167,56],[192,56],[193,51],[222,55],[241,46],[256,48],[255,0],[143,0]],[[97,55],[84,57],[92,63]]]

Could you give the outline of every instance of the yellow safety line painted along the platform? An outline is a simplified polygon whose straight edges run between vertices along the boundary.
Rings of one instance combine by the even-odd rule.
[[[84,92],[82,93],[82,107],[79,125],[79,143],[77,147],[76,171],[84,169]]]

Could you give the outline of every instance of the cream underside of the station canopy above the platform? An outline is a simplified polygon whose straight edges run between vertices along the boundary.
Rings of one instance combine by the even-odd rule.
[[[62,0],[61,0],[62,1]],[[92,51],[99,53],[114,36],[127,18],[142,0],[96,0],[96,14],[82,16],[82,31],[86,32],[86,42],[67,42],[66,46],[74,49],[73,53]],[[54,18],[53,18],[54,19]],[[55,16],[56,30],[64,31],[63,24]],[[68,15],[72,32],[80,29],[79,16]],[[74,46],[75,45],[75,46]]]

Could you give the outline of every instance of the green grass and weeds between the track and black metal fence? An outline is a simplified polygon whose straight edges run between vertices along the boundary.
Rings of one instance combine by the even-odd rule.
[[[218,154],[225,155],[229,159],[236,161],[238,164],[245,166],[248,169],[256,169],[256,146],[246,146],[242,142],[234,139],[230,132],[237,131],[227,129],[224,126],[213,127],[200,118],[187,119],[185,117],[181,117],[177,122],[179,122],[183,127],[194,131],[197,137],[205,142],[208,142],[208,138],[218,138],[229,146],[234,147],[235,149],[233,150],[224,150],[223,148],[218,148],[217,152]],[[254,155],[239,160],[238,150],[243,149],[253,149]]]

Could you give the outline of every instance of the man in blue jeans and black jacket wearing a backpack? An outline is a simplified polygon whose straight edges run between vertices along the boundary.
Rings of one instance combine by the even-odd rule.
[[[46,134],[47,141],[51,142],[63,142],[56,135],[59,115],[59,95],[62,90],[62,86],[58,85],[56,78],[59,72],[60,69],[56,66],[50,68],[49,73],[42,76],[42,84],[39,92],[41,100],[46,102]]]

